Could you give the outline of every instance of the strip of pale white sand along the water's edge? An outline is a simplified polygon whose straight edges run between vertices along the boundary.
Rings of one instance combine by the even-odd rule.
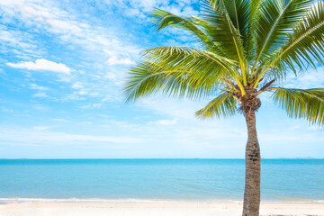
[[[1,216],[232,216],[241,202],[186,201],[10,201],[0,204]],[[260,215],[324,216],[323,202],[262,202]]]

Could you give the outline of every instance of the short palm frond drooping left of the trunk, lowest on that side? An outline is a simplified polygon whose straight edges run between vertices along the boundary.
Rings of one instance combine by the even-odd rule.
[[[230,92],[225,92],[217,96],[210,103],[208,103],[202,110],[195,114],[201,119],[221,116],[230,116],[237,111],[237,100]]]

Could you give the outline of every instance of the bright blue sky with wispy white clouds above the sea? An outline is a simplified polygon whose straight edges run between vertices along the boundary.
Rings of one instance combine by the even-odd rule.
[[[244,158],[241,114],[201,121],[208,100],[161,94],[125,103],[140,51],[195,47],[184,31],[157,32],[149,13],[199,14],[195,0],[1,0],[0,158]],[[324,68],[280,84],[324,85]],[[324,158],[324,130],[289,119],[261,96],[261,156]]]

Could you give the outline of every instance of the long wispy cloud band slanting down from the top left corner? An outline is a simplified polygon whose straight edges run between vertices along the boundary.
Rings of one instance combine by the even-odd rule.
[[[91,23],[91,20],[76,19],[75,11],[58,8],[57,1],[1,1],[0,11],[6,17],[19,19],[38,30],[57,34],[61,42],[76,44],[88,50],[103,53],[109,48],[116,55],[137,55],[137,45],[125,43],[119,32],[111,31],[106,26]],[[10,37],[6,37],[10,39]],[[93,55],[93,54],[92,54]]]

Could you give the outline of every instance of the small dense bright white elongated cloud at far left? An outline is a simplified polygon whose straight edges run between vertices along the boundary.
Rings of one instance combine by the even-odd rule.
[[[67,67],[62,63],[56,63],[54,61],[49,61],[44,58],[37,59],[35,62],[32,61],[24,61],[21,63],[6,63],[9,67],[14,68],[22,68],[28,70],[48,70],[58,73],[69,74],[71,72],[71,68]]]

